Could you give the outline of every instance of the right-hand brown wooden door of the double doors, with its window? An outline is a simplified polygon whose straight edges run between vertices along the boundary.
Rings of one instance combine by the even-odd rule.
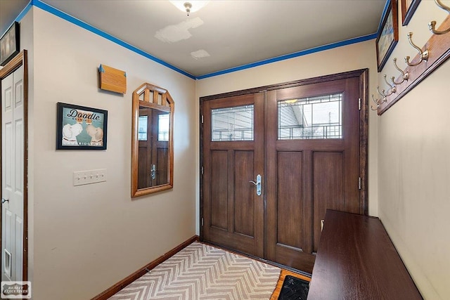
[[[326,209],[362,214],[359,79],[268,91],[266,259],[311,273]]]

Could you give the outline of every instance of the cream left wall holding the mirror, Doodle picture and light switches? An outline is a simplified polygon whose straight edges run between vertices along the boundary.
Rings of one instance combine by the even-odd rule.
[[[32,13],[32,292],[90,299],[195,235],[195,82],[39,8]],[[124,96],[98,89],[101,63],[127,72]],[[131,93],[143,82],[174,98],[174,188],[131,199]],[[57,102],[108,110],[108,150],[56,151]],[[73,171],[103,168],[108,181],[72,185]]]

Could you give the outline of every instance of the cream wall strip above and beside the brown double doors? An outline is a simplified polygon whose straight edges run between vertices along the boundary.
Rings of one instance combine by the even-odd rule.
[[[373,86],[376,86],[375,57],[375,40],[342,46],[269,65],[198,80],[196,98],[365,68],[369,69],[369,87],[373,89]],[[195,110],[199,114],[199,100],[197,100]],[[376,122],[377,115],[370,110],[368,125],[368,212],[371,216],[378,215],[378,177],[376,175],[378,168],[376,162],[378,127]],[[197,138],[199,138],[199,124],[197,124],[196,130]],[[198,157],[200,155],[199,144],[200,141],[198,140],[196,142]],[[200,178],[197,177],[196,194],[198,203],[200,202],[199,182]],[[197,204],[197,207],[199,207],[199,204]],[[197,216],[199,214],[200,212],[197,210]],[[197,228],[197,232],[199,231],[200,229]]]

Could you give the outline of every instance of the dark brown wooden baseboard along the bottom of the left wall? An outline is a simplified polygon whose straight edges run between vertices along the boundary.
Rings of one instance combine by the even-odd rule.
[[[162,256],[158,257],[158,259],[155,259],[154,261],[148,263],[146,266],[143,266],[139,270],[136,270],[136,272],[132,273],[131,275],[127,276],[123,280],[120,280],[120,282],[117,282],[115,285],[110,287],[109,289],[106,289],[105,292],[102,292],[101,294],[98,294],[91,300],[106,300],[119,292],[121,289],[129,285],[131,282],[134,282],[134,280],[140,278],[142,275],[148,272],[148,270],[151,270],[155,268],[155,266],[158,266],[163,261],[166,261],[170,257],[174,256],[177,252],[180,252],[182,249],[186,248],[188,245],[192,244],[193,242],[198,242],[200,240],[200,237],[198,235],[194,235],[190,239],[186,240],[185,242],[179,244],[174,249],[170,250],[166,254],[163,254]]]

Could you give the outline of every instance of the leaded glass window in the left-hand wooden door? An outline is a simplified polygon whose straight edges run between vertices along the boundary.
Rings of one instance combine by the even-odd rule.
[[[253,141],[254,105],[211,111],[212,141]]]

